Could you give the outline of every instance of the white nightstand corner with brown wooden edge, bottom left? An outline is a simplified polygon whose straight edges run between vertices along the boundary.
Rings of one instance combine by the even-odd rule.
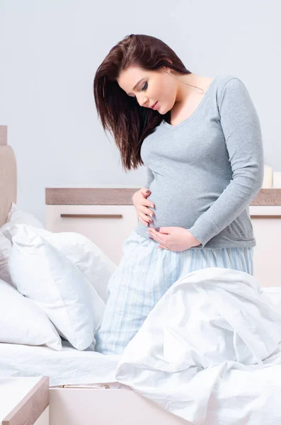
[[[0,425],[49,425],[49,378],[0,378]]]

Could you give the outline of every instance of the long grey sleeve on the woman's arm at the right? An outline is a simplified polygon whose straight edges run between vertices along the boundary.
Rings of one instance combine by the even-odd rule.
[[[233,222],[263,184],[263,141],[255,106],[242,81],[226,82],[218,96],[220,123],[233,179],[214,203],[188,229],[205,246]]]

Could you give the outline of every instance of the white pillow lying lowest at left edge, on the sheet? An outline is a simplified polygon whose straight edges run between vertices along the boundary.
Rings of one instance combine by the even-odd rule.
[[[59,334],[38,305],[1,279],[0,293],[0,342],[62,350]]]

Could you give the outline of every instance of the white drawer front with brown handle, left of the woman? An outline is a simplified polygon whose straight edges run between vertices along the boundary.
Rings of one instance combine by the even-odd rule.
[[[47,230],[84,234],[115,264],[137,223],[134,205],[46,205]]]

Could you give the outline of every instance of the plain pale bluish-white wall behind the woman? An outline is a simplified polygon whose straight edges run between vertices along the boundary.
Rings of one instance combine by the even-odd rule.
[[[0,125],[18,164],[18,206],[45,223],[45,187],[142,187],[98,121],[93,77],[130,33],[154,35],[203,77],[234,74],[281,171],[280,2],[0,0]],[[108,140],[109,138],[109,140]]]

